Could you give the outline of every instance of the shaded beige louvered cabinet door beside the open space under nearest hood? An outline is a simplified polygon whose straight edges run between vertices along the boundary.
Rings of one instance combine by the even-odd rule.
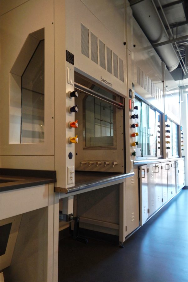
[[[126,236],[139,226],[138,170],[126,178]]]

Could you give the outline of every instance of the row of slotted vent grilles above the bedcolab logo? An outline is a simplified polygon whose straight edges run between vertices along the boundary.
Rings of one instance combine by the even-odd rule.
[[[81,23],[81,53],[124,82],[123,60]],[[91,55],[91,56],[90,56]]]

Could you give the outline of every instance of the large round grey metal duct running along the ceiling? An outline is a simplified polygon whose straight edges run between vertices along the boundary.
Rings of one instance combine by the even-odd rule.
[[[131,8],[133,10],[134,18],[151,44],[169,40],[151,0],[138,2],[135,5],[131,5]],[[179,59],[171,44],[156,47],[155,50],[165,62],[169,71],[177,68]]]

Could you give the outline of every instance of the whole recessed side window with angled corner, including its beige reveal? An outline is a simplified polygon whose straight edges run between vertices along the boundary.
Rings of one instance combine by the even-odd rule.
[[[9,143],[44,142],[44,29],[27,37],[10,71]]]

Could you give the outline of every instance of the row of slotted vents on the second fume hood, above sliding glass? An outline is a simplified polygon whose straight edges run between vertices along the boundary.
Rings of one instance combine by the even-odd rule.
[[[157,85],[155,85],[154,82],[138,66],[137,66],[137,83],[142,88],[144,88],[144,90],[147,91],[151,97],[154,97],[156,100],[161,102],[163,97],[163,91],[161,91],[160,88]]]

